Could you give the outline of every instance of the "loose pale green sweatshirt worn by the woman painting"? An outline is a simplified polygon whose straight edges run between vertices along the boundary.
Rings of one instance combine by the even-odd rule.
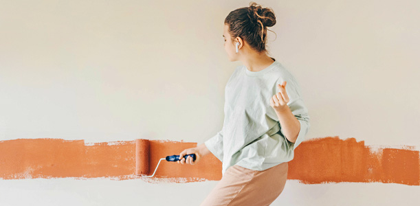
[[[286,81],[287,105],[300,122],[295,143],[283,135],[270,99],[278,93],[277,84]],[[222,175],[232,165],[266,170],[294,158],[294,149],[308,133],[309,115],[294,76],[278,61],[261,71],[236,67],[225,87],[223,128],[204,142],[222,161]]]

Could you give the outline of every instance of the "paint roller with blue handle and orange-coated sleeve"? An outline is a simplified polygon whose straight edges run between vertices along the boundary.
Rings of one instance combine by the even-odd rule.
[[[150,142],[148,139],[136,139],[135,140],[135,174],[141,175],[142,177],[152,177],[155,175],[157,168],[159,167],[160,161],[165,159],[166,161],[179,161],[179,155],[170,155],[166,156],[166,158],[159,159],[159,163],[155,168],[155,172],[151,176],[144,176],[148,174],[148,159],[149,159],[149,151],[150,151]],[[195,161],[195,154],[185,155],[184,157],[187,158],[188,156],[192,157],[192,160]]]

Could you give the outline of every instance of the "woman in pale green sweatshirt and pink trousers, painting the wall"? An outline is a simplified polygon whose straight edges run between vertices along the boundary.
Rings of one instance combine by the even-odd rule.
[[[269,205],[287,180],[288,161],[309,130],[309,115],[294,76],[267,56],[267,27],[274,12],[254,2],[226,17],[223,37],[230,61],[240,60],[225,87],[225,119],[217,135],[179,154],[197,164],[210,152],[223,177],[204,205]],[[287,86],[286,86],[287,84]],[[196,160],[185,155],[195,154]]]

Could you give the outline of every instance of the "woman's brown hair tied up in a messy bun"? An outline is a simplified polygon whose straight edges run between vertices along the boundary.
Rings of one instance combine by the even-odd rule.
[[[250,7],[238,8],[230,12],[226,16],[225,24],[229,26],[228,31],[232,41],[239,36],[256,52],[261,53],[267,52],[265,49],[267,27],[276,24],[276,16],[272,8],[262,8],[261,5],[251,1]]]

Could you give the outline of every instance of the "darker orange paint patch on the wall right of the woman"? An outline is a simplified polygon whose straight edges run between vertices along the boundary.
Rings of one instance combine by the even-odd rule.
[[[374,151],[355,138],[310,139],[296,148],[287,179],[298,179],[305,184],[382,182],[420,185],[419,151],[393,148]]]

